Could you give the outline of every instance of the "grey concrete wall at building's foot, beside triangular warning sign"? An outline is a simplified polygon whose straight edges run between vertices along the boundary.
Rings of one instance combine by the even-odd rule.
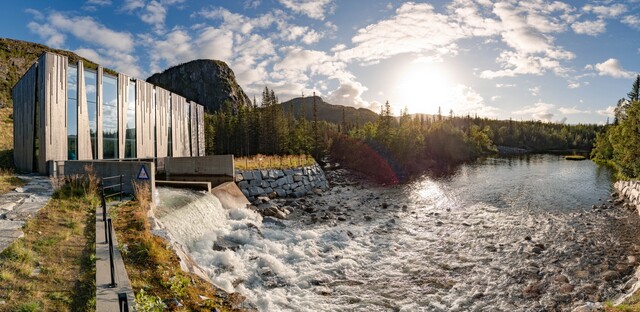
[[[54,177],[84,175],[87,173],[85,166],[93,166],[93,172],[99,178],[124,175],[122,182],[124,183],[123,191],[133,194],[133,181],[148,181],[150,194],[155,193],[155,166],[153,162],[147,161],[109,161],[109,160],[64,160],[52,162]],[[148,180],[139,180],[138,174],[140,168],[143,167],[149,175]],[[112,183],[109,183],[112,184]],[[151,196],[153,199],[155,196]]]

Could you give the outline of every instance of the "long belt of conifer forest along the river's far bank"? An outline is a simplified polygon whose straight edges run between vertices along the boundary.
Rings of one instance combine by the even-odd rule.
[[[375,175],[382,183],[395,183],[496,153],[497,146],[530,152],[588,151],[602,128],[457,116],[453,112],[447,116],[412,115],[406,109],[394,116],[389,103],[375,121],[347,121],[343,109],[342,121],[335,123],[319,120],[315,105],[319,98],[311,100],[312,113],[298,117],[294,117],[294,109],[283,109],[273,90],[266,87],[261,105],[255,99],[248,107],[225,103],[222,110],[206,115],[207,154],[309,154],[318,160],[329,154],[351,169]]]

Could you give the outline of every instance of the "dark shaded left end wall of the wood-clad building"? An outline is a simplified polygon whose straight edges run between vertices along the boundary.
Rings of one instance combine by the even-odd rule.
[[[18,171],[33,171],[38,67],[32,65],[13,87],[13,159]]]

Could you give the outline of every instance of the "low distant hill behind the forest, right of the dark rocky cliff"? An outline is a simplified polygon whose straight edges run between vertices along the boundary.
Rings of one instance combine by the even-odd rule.
[[[315,99],[318,107],[318,120],[341,124],[343,109],[345,120],[349,124],[355,124],[357,121],[360,125],[363,125],[368,121],[375,122],[378,119],[378,114],[366,108],[356,109],[351,106],[334,105],[323,101],[319,96],[316,96]],[[294,117],[304,116],[308,120],[313,119],[313,97],[311,96],[293,98],[279,105],[282,105],[285,113],[288,113],[293,108]]]

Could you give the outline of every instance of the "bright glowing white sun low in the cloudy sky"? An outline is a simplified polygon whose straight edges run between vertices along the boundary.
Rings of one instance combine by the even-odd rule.
[[[409,113],[436,114],[438,108],[451,106],[454,85],[449,73],[440,64],[411,64],[401,73],[394,106],[409,109]]]

